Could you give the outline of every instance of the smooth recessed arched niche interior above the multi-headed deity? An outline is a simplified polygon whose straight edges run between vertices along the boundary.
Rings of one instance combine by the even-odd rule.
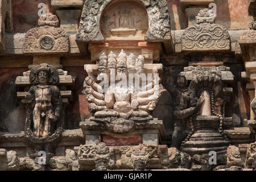
[[[134,1],[110,3],[101,18],[101,32],[104,38],[123,37],[139,39],[148,31],[147,11]]]

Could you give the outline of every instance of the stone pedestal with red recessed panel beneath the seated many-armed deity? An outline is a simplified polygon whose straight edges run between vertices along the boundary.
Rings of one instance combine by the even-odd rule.
[[[119,146],[140,143],[159,144],[160,141],[166,140],[163,121],[157,118],[147,122],[135,121],[132,123],[133,125],[130,122],[126,123],[127,126],[122,124],[124,123],[118,125],[118,123],[110,122],[105,125],[104,122],[86,119],[86,121],[80,122],[80,127],[85,135],[86,144],[105,142],[109,146]]]

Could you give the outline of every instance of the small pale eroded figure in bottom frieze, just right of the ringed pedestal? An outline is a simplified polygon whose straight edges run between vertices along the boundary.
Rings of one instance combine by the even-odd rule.
[[[241,154],[240,154],[239,148],[236,146],[229,146],[227,148],[226,159],[227,159],[226,166],[228,168],[232,166],[243,167]]]

